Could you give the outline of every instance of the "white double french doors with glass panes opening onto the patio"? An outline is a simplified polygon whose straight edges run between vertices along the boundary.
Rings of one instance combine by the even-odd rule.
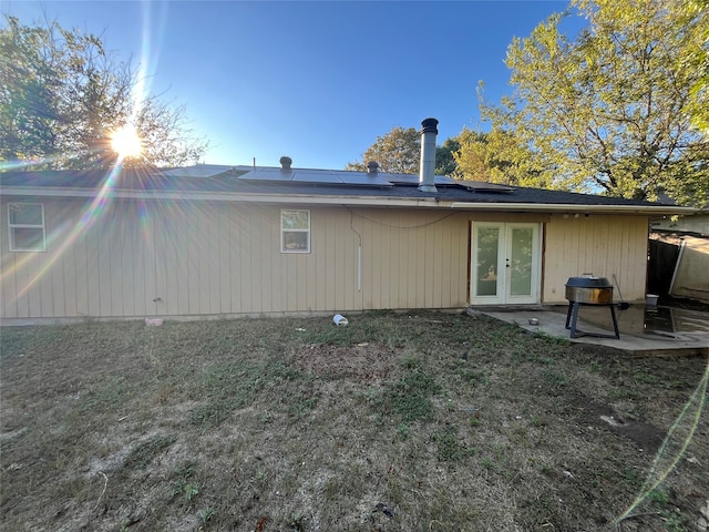
[[[540,303],[540,224],[473,222],[471,303]]]

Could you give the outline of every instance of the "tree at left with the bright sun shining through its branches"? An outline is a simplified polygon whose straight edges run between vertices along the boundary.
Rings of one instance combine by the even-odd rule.
[[[184,106],[136,93],[138,73],[93,34],[56,22],[0,28],[0,167],[86,168],[115,162],[111,133],[132,124],[143,152],[134,166],[196,162],[207,147],[186,127]]]

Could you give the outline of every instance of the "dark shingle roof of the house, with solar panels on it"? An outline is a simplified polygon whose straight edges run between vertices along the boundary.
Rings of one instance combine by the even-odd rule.
[[[109,184],[115,191],[143,193],[217,193],[348,196],[391,200],[434,198],[436,202],[475,204],[547,204],[660,206],[639,200],[624,200],[563,191],[456,182],[436,176],[435,193],[418,190],[419,176],[410,174],[281,168],[263,166],[196,165],[179,168],[112,171],[2,172],[0,187],[28,188],[41,195],[43,188],[70,191],[100,190]],[[666,204],[664,204],[666,205]]]

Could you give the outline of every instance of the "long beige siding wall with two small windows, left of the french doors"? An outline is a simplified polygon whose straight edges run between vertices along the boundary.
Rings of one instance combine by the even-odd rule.
[[[44,200],[47,252],[11,253],[7,203],[2,318],[466,305],[464,213],[311,207],[311,253],[284,254],[280,205]]]

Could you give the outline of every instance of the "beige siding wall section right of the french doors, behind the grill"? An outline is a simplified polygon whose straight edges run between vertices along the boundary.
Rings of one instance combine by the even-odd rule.
[[[612,282],[615,274],[626,300],[645,299],[647,217],[552,216],[545,231],[544,303],[566,303],[566,280],[584,273]]]

